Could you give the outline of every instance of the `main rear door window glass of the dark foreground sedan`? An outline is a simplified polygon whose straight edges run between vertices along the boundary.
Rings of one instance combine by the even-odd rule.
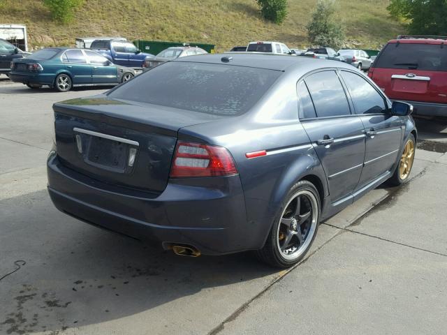
[[[333,70],[321,71],[305,79],[314,101],[317,117],[349,115],[348,99],[342,83]]]

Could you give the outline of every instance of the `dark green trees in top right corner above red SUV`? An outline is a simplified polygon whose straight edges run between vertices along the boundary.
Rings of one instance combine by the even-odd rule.
[[[406,20],[410,34],[447,35],[447,0],[391,0],[388,11]]]

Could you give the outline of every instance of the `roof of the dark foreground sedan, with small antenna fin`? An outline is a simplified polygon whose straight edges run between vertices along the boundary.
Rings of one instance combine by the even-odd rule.
[[[223,62],[223,57],[231,57],[230,62]],[[191,63],[228,64],[233,66],[247,66],[252,68],[266,68],[269,70],[285,71],[288,68],[319,68],[319,67],[348,67],[351,65],[341,61],[328,59],[314,59],[310,57],[291,56],[288,54],[272,54],[261,52],[225,52],[223,54],[199,54],[194,57],[177,58],[175,61]]]

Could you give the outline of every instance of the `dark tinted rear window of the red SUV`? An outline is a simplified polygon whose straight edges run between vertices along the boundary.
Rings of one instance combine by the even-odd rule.
[[[439,44],[388,43],[374,64],[376,68],[446,71],[447,47]]]

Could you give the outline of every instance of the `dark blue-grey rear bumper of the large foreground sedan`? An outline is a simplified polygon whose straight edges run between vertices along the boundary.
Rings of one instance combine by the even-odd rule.
[[[120,193],[117,186],[78,174],[53,155],[47,177],[57,209],[142,241],[187,244],[205,255],[235,253],[262,243],[251,238],[256,234],[247,223],[239,176],[208,178],[205,186],[198,179],[189,184],[171,179],[163,193],[145,197]]]

